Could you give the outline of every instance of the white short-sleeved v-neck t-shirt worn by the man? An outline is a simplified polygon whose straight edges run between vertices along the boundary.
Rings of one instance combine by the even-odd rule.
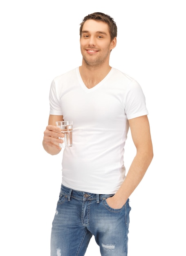
[[[89,193],[116,193],[125,179],[128,119],[148,115],[140,85],[112,68],[88,89],[77,67],[52,81],[49,101],[50,115],[73,121],[73,146],[63,152],[62,184]]]

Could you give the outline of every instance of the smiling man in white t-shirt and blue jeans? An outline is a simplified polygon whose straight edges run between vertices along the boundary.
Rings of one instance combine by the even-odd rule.
[[[92,235],[102,256],[128,252],[128,198],[146,173],[153,151],[140,85],[109,65],[116,38],[110,16],[86,16],[80,27],[82,65],[52,81],[45,150],[51,155],[61,151],[56,121],[73,121],[74,127],[73,146],[63,152],[51,256],[85,255]],[[125,177],[129,127],[137,153]]]

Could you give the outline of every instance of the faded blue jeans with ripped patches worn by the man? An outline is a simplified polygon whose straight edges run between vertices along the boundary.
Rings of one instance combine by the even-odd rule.
[[[127,256],[129,200],[112,209],[99,195],[61,185],[52,223],[51,256],[83,256],[94,235],[102,256]]]

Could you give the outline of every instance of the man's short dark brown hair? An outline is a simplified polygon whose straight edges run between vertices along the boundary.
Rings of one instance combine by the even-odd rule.
[[[109,29],[110,29],[111,40],[114,39],[114,37],[117,37],[116,22],[109,15],[101,13],[101,12],[94,12],[92,14],[89,14],[89,15],[85,16],[85,18],[83,19],[83,22],[81,22],[81,24],[80,24],[81,25],[81,27],[79,29],[80,37],[81,37],[81,32],[82,32],[83,25],[84,25],[86,20],[100,20],[100,21],[106,22],[108,24]]]

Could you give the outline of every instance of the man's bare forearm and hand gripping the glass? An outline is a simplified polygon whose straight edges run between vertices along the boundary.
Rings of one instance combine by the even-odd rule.
[[[63,143],[63,140],[58,139],[58,132],[61,132],[61,129],[56,126],[56,121],[63,121],[63,116],[49,115],[48,126],[43,137],[43,148],[50,155],[57,155],[61,151],[59,143]],[[61,133],[60,137],[63,136],[63,133]]]

